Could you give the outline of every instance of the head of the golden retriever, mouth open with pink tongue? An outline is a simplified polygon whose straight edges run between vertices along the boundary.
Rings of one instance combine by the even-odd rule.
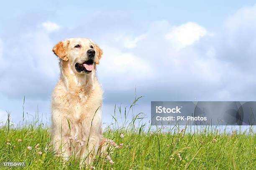
[[[95,65],[100,63],[102,55],[100,47],[86,38],[70,38],[60,41],[52,51],[78,74],[92,72]]]

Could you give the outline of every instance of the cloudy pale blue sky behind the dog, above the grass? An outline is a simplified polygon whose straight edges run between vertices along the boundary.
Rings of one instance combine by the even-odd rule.
[[[0,122],[50,120],[59,79],[52,47],[87,37],[103,50],[103,122],[150,101],[256,101],[256,4],[244,1],[19,1],[0,7]]]

